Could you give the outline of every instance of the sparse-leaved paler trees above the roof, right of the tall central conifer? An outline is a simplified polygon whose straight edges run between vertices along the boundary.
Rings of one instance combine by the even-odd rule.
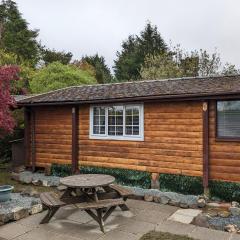
[[[147,56],[141,68],[143,79],[206,77],[239,73],[240,70],[234,65],[223,65],[216,51],[212,54],[206,50],[188,53],[179,46],[165,54]]]

